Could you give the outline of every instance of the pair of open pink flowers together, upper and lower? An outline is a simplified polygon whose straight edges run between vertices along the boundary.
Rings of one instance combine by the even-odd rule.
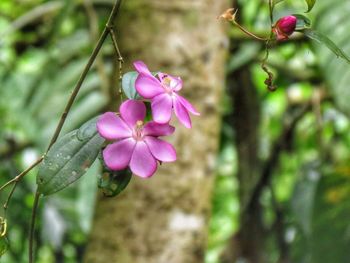
[[[165,73],[153,76],[142,61],[134,66],[139,73],[135,88],[151,102],[153,120],[144,123],[146,106],[140,100],[127,100],[120,106],[120,115],[106,112],[97,121],[99,134],[113,140],[103,150],[106,166],[113,171],[130,167],[140,177],[152,176],[158,162],[176,160],[174,147],[159,137],[171,135],[175,128],[169,125],[172,112],[187,128],[191,128],[189,113],[199,115],[194,107],[178,94],[182,88],[179,77]]]

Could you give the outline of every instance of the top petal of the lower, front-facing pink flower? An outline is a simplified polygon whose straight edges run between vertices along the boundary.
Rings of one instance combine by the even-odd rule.
[[[120,115],[123,120],[133,128],[137,121],[143,121],[146,117],[146,106],[142,101],[127,100],[120,105]]]

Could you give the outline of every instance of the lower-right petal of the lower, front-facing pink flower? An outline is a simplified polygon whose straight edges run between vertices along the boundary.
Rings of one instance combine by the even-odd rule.
[[[176,151],[170,143],[152,136],[146,136],[145,142],[157,160],[162,162],[174,162],[176,160]]]

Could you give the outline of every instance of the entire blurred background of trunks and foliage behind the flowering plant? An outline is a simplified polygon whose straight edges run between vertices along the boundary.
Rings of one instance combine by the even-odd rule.
[[[46,149],[113,0],[0,1],[0,182]],[[175,164],[150,180],[133,178],[116,198],[97,188],[99,163],[68,189],[43,198],[36,262],[343,263],[350,258],[350,71],[302,35],[273,47],[226,21],[269,35],[263,0],[125,0],[115,21],[125,58],[183,77],[202,113],[170,138]],[[303,13],[285,0],[275,19]],[[318,0],[313,27],[350,54],[348,0]],[[118,108],[118,63],[108,40],[63,133]],[[0,262],[27,262],[36,170],[7,212]],[[1,192],[3,204],[9,192]],[[3,216],[3,211],[0,213]]]

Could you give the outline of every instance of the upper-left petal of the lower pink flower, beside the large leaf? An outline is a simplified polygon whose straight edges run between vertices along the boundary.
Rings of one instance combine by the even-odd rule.
[[[106,112],[98,118],[97,131],[107,140],[117,140],[132,136],[129,126],[114,112]]]

